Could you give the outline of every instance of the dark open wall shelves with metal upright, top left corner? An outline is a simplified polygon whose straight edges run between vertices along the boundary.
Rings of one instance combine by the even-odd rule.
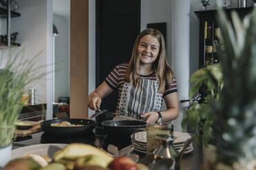
[[[10,33],[10,20],[12,17],[18,17],[21,16],[19,12],[14,12],[10,10],[10,0],[7,0],[7,6],[6,8],[0,7],[0,18],[1,19],[6,19],[6,35],[7,35],[7,40],[1,40],[0,42],[0,48],[1,47],[19,47],[20,44],[17,42],[11,42],[11,33]]]

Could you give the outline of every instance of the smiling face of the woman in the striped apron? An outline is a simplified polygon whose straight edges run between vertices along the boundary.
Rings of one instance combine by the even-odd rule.
[[[151,35],[143,36],[138,45],[140,64],[152,64],[158,57],[160,43]]]

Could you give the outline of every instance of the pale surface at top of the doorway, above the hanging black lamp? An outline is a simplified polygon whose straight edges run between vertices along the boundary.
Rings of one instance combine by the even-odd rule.
[[[61,16],[70,16],[70,0],[53,0],[53,13]]]

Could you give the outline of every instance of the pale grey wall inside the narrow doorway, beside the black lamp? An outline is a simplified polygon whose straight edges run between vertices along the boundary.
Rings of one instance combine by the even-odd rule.
[[[69,58],[70,53],[68,53],[68,42],[69,37],[69,22],[67,18],[60,15],[53,15],[53,22],[58,29],[58,36],[55,37],[55,99],[58,102],[59,97],[70,96],[70,86],[69,86]]]

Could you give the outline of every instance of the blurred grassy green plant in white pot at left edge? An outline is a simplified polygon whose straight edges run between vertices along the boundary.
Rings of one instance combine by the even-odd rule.
[[[25,87],[37,82],[45,73],[39,73],[34,68],[37,61],[36,55],[32,60],[25,60],[21,53],[13,55],[9,51],[6,62],[1,58],[0,70],[0,167],[10,160],[12,138],[14,136],[15,121],[19,117],[23,103],[21,96]]]

